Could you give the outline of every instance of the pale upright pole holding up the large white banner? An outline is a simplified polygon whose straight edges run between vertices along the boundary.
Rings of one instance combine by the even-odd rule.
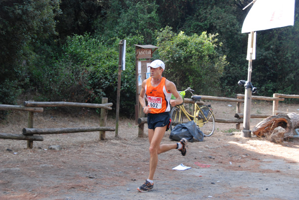
[[[249,37],[251,37],[251,40],[249,40],[250,43],[248,43],[248,46],[250,47],[250,58],[248,62],[248,76],[247,76],[248,83],[251,82],[254,32],[251,32]],[[251,130],[250,130],[251,94],[252,94],[251,88],[245,89],[243,130],[241,133],[242,137],[251,137]]]

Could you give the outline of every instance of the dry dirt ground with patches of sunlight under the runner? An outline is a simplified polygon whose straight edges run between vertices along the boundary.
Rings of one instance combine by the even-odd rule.
[[[216,118],[234,118],[236,104],[210,103]],[[299,104],[280,103],[279,109],[298,112]],[[272,104],[253,102],[251,113],[271,114]],[[251,119],[251,127],[261,120]],[[97,124],[94,114],[45,111],[34,114],[33,126]],[[0,122],[0,132],[21,134],[26,126],[27,113],[13,111]],[[115,119],[108,126],[115,126]],[[235,127],[216,123],[211,137],[188,143],[184,157],[177,150],[160,154],[148,193],[137,187],[148,177],[149,142],[147,134],[138,137],[133,120],[120,119],[119,137],[106,132],[105,141],[98,132],[44,135],[44,141],[27,149],[26,141],[0,139],[0,200],[298,200],[299,139],[277,144],[244,138]],[[162,143],[175,143],[169,134]],[[50,145],[62,150],[50,150]],[[191,169],[172,170],[181,163]]]

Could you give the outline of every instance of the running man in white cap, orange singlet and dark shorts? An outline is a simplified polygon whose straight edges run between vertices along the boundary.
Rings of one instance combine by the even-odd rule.
[[[178,149],[185,156],[187,143],[187,140],[182,138],[178,143],[160,144],[165,131],[169,129],[170,105],[181,104],[183,99],[177,92],[174,83],[162,77],[165,65],[161,60],[152,61],[148,67],[150,67],[151,77],[142,83],[139,102],[143,107],[144,113],[148,114],[149,178],[137,189],[140,192],[148,192],[153,188],[153,175],[158,164],[158,154],[170,149]],[[171,94],[176,98],[175,100],[170,100]],[[148,105],[146,104],[145,96],[148,100]]]

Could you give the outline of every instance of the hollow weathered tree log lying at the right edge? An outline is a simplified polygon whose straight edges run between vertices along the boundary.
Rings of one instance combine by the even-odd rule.
[[[259,137],[270,137],[277,127],[282,127],[286,130],[284,138],[292,138],[294,135],[297,135],[295,129],[299,127],[299,114],[280,112],[279,114],[271,115],[258,123],[252,129],[252,133]]]

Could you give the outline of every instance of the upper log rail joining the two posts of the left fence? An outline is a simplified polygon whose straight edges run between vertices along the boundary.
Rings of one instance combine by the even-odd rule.
[[[92,108],[105,108],[112,110],[113,103],[76,103],[76,102],[66,102],[66,101],[53,101],[53,102],[41,102],[41,101],[24,101],[24,106],[37,106],[37,107],[62,107],[62,106],[71,106],[71,107],[92,107]]]

